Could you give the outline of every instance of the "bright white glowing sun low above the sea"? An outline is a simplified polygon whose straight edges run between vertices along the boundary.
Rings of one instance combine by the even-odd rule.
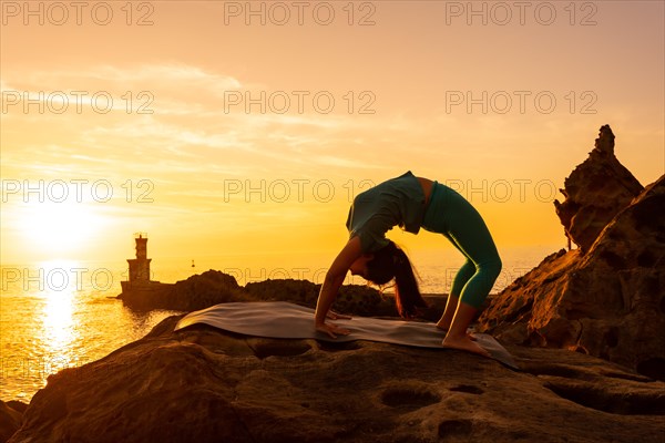
[[[40,255],[81,251],[103,227],[103,218],[91,204],[42,202],[25,204],[21,209],[22,236]]]

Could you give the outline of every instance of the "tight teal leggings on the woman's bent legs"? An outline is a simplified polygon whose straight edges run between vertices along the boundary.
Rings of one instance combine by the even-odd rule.
[[[454,189],[434,182],[422,228],[442,234],[464,255],[450,295],[480,308],[501,272],[501,258],[478,210]]]

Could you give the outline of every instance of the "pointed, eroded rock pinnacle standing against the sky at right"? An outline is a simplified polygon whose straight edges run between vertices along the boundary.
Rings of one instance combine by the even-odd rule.
[[[614,134],[605,125],[589,158],[560,189],[565,200],[554,200],[554,206],[569,239],[586,251],[610,220],[642,189],[640,182],[614,156]]]

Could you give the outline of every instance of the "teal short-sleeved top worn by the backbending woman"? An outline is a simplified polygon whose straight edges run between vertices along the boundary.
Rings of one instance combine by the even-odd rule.
[[[374,253],[388,245],[386,233],[393,226],[418,234],[424,209],[422,186],[409,171],[354,198],[346,223],[349,238],[360,237],[362,253]]]

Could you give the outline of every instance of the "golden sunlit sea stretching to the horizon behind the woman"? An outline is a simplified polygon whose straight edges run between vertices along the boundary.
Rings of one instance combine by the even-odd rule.
[[[503,270],[492,289],[499,292],[535,267],[552,247],[521,247],[501,251]],[[157,257],[151,279],[184,280],[208,269],[236,278],[239,285],[267,278],[307,279],[320,284],[334,257],[236,256]],[[447,251],[412,254],[423,293],[444,295],[463,259]],[[0,291],[0,400],[30,402],[50,374],[108,356],[144,337],[171,310],[135,311],[116,296],[127,279],[127,264],[51,260],[2,264]],[[360,277],[345,284],[364,285]]]

